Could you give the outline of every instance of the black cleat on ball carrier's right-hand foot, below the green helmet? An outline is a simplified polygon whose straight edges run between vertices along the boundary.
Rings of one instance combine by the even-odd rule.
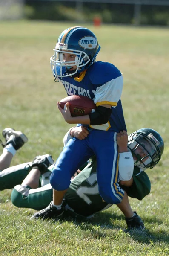
[[[126,223],[127,223],[127,228],[129,230],[131,229],[137,229],[137,230],[142,230],[144,229],[144,223],[140,216],[137,215],[137,212],[135,212],[135,215],[132,218],[125,218]]]

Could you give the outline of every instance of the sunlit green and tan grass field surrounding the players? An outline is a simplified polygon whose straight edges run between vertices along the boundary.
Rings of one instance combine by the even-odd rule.
[[[0,24],[0,131],[23,131],[29,142],[12,165],[38,154],[57,159],[71,127],[57,110],[66,96],[54,83],[50,56],[60,33],[75,23],[14,22]],[[83,24],[80,24],[83,25]],[[85,26],[85,25],[84,25]],[[125,232],[126,222],[114,206],[86,223],[30,221],[31,209],[18,209],[11,190],[0,192],[0,256],[164,256],[169,255],[169,30],[125,26],[88,26],[97,35],[97,60],[115,64],[124,77],[123,111],[128,133],[157,130],[165,142],[158,166],[147,173],[151,193],[132,208],[146,226]]]

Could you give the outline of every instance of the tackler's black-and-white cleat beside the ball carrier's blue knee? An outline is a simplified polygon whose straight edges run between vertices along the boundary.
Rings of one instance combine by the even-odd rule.
[[[52,156],[49,154],[43,156],[34,157],[32,161],[32,169],[37,168],[40,170],[40,173],[43,174],[48,171],[48,167],[54,163]]]

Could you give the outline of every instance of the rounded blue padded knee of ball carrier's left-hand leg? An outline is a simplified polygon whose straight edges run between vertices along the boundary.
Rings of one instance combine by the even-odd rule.
[[[50,177],[51,186],[57,191],[68,189],[70,185],[70,180],[71,177],[66,177],[66,174],[60,169],[53,170]]]

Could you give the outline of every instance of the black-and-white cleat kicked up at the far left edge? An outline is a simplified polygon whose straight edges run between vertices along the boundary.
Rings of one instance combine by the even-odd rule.
[[[12,128],[5,128],[2,132],[3,137],[6,140],[6,145],[10,143],[13,145],[14,149],[18,150],[28,141],[28,138],[21,131],[15,131]]]

